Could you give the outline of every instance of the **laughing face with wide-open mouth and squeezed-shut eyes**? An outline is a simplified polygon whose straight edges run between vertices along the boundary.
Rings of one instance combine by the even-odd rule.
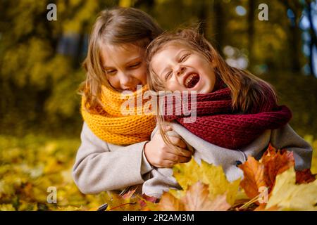
[[[181,44],[167,44],[151,60],[151,68],[168,91],[213,91],[216,75],[204,55]]]

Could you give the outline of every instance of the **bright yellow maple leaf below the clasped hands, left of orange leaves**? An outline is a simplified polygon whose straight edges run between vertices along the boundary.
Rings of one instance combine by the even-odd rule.
[[[227,196],[227,202],[230,205],[235,203],[237,191],[240,185],[240,179],[229,182],[223,172],[223,167],[214,166],[201,160],[201,165],[192,159],[187,163],[175,165],[173,176],[184,191],[189,186],[201,181],[209,186],[209,198],[213,200],[217,195]],[[185,195],[184,191],[172,191],[175,197]]]

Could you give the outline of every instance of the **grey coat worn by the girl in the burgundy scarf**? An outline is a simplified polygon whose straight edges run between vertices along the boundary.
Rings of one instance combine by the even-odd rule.
[[[271,143],[276,149],[286,148],[287,150],[291,150],[294,153],[295,169],[302,170],[311,167],[313,152],[311,146],[296,134],[289,124],[280,129],[266,130],[248,146],[237,150],[221,148],[204,141],[178,123],[173,122],[170,125],[176,134],[184,139],[189,146],[194,148],[194,160],[199,164],[201,160],[204,160],[213,165],[222,165],[228,181],[234,181],[243,177],[242,170],[236,166],[237,161],[245,162],[248,155],[259,160],[268,147],[268,143]],[[158,127],[154,129],[151,136],[156,131],[158,131]],[[159,198],[163,191],[168,191],[169,188],[180,188],[172,176],[173,169],[155,168],[149,174],[150,179],[144,182],[142,193]]]

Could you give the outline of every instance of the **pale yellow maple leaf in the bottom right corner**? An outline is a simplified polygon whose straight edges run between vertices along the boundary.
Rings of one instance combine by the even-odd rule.
[[[294,167],[276,177],[266,209],[278,205],[283,210],[317,210],[317,180],[295,184]]]

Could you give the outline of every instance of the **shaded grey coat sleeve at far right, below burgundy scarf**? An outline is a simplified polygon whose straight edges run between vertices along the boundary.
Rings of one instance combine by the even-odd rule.
[[[274,129],[270,142],[276,149],[286,148],[293,152],[295,169],[302,170],[311,167],[313,148],[290,127],[290,124],[280,129]]]

